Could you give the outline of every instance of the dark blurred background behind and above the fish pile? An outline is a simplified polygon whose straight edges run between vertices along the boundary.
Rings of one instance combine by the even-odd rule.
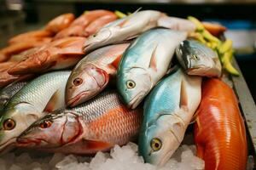
[[[0,0],[0,47],[9,37],[44,26],[63,13],[105,8],[133,12],[156,9],[172,16],[193,15],[219,22],[234,42],[236,60],[256,99],[256,0]]]

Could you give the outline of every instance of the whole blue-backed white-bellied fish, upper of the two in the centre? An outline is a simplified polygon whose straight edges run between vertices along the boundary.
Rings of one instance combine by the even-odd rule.
[[[186,36],[183,31],[159,28],[144,32],[131,43],[117,73],[117,88],[126,105],[136,108],[166,75],[175,48]]]

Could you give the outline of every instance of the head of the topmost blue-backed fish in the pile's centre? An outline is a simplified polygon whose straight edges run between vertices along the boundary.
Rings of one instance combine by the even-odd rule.
[[[125,105],[135,109],[152,88],[151,77],[141,67],[120,70],[117,74],[117,88]]]

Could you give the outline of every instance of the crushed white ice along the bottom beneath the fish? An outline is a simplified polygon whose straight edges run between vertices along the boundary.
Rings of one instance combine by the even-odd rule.
[[[165,167],[155,167],[144,163],[137,154],[137,144],[116,145],[110,153],[98,152],[95,157],[65,156],[56,153],[53,156],[33,158],[28,153],[15,156],[9,153],[0,157],[1,170],[201,170],[204,161],[195,156],[195,145],[180,146]]]

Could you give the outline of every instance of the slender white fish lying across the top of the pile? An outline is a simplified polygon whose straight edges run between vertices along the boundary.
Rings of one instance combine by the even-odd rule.
[[[157,20],[162,15],[164,14],[159,11],[143,10],[115,20],[88,37],[88,40],[84,42],[84,52],[137,37],[144,31],[157,26]]]

